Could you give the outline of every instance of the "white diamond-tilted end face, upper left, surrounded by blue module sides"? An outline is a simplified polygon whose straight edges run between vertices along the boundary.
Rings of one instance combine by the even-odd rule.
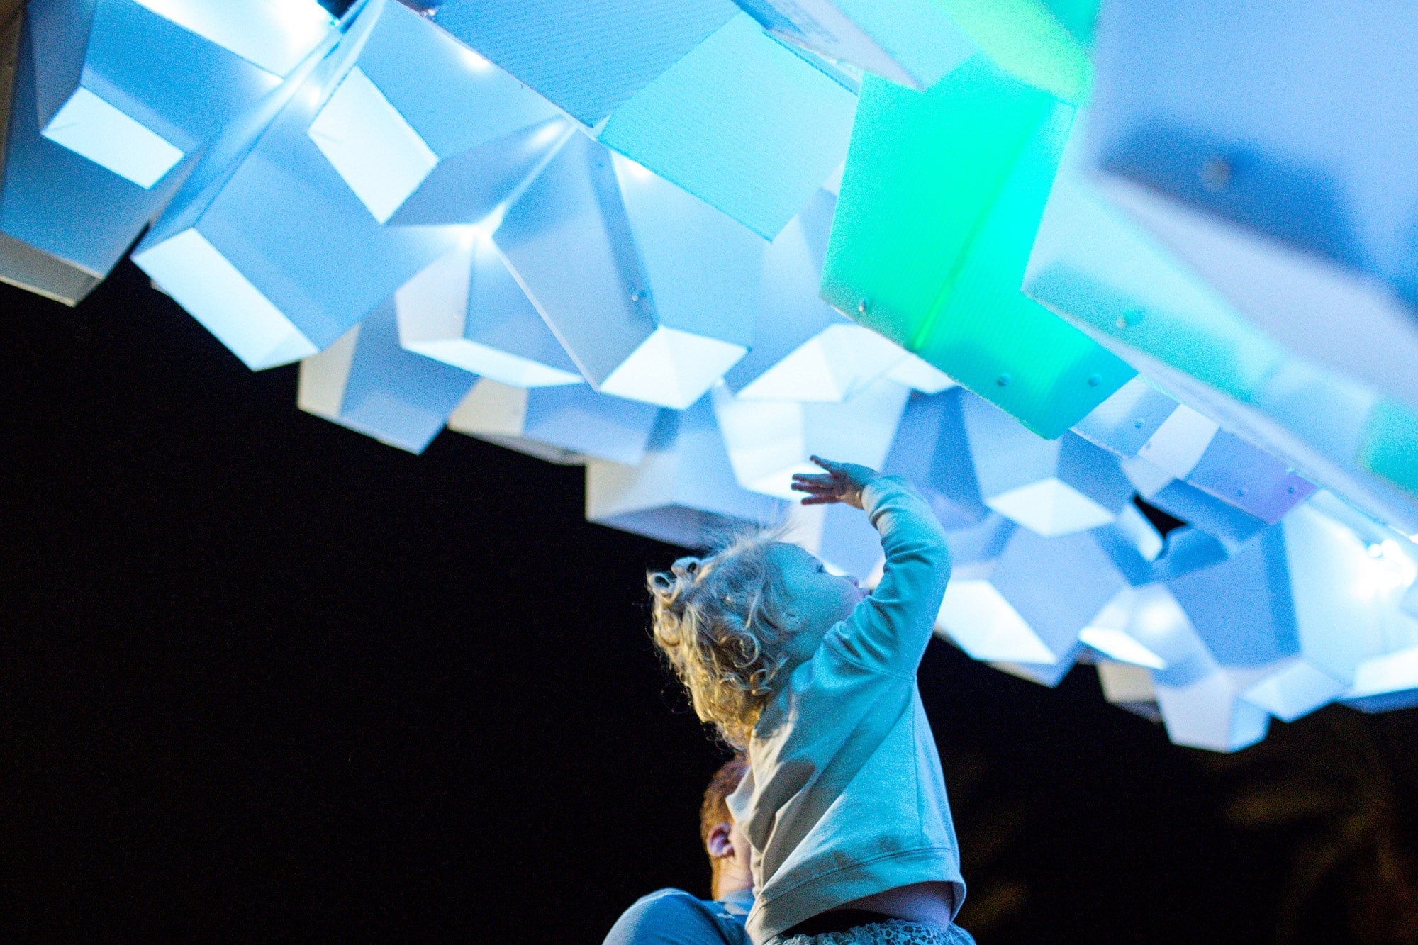
[[[359,67],[309,128],[311,140],[384,223],[438,165],[438,156]]]

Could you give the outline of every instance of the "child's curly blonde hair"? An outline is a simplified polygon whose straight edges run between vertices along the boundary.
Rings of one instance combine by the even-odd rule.
[[[783,667],[777,566],[781,529],[740,532],[705,558],[651,572],[651,634],[689,690],[695,714],[736,748],[749,744]]]

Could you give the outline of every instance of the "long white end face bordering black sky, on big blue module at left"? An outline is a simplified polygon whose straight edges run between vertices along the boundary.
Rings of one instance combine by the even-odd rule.
[[[251,370],[319,350],[196,230],[183,230],[135,260]]]

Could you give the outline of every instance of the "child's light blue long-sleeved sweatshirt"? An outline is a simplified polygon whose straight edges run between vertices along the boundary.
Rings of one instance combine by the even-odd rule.
[[[729,810],[753,846],[750,938],[865,895],[943,881],[964,901],[956,830],[916,668],[950,579],[944,534],[903,480],[864,507],[882,536],[881,583],[773,694]]]

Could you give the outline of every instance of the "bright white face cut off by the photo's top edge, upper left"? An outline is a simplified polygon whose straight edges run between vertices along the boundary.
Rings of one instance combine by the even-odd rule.
[[[286,75],[335,26],[315,0],[133,0],[160,17]]]

